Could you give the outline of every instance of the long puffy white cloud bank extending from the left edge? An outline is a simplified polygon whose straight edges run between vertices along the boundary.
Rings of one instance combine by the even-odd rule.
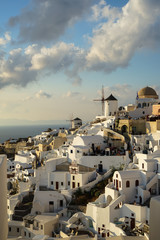
[[[0,88],[7,85],[26,86],[36,81],[40,74],[62,71],[73,84],[80,84],[80,61],[85,59],[84,50],[74,44],[60,42],[50,48],[30,45],[25,50],[13,49],[0,58]]]

